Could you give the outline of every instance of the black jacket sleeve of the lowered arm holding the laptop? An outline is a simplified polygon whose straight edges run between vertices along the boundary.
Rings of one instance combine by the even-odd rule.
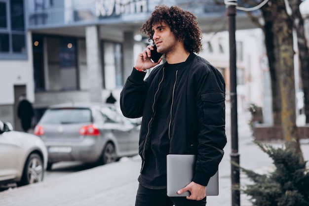
[[[193,181],[207,186],[218,170],[227,143],[225,134],[225,82],[216,69],[201,75],[196,85],[198,145]]]

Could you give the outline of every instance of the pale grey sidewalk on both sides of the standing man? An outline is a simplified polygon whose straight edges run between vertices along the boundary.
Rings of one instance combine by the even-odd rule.
[[[257,172],[272,169],[271,159],[255,145],[248,126],[250,114],[238,115],[240,165]],[[207,206],[231,206],[231,120],[227,115],[228,143],[219,166],[219,196],[207,197]],[[281,146],[282,143],[271,143]],[[302,144],[305,160],[309,160],[309,143]],[[134,206],[141,160],[122,158],[119,162],[98,166],[0,192],[0,206]],[[240,175],[242,186],[249,183]],[[241,206],[251,206],[248,197],[240,196]]]

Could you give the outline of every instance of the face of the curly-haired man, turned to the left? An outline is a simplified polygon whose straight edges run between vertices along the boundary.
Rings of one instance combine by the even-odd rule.
[[[154,24],[153,32],[154,43],[159,53],[167,54],[176,48],[178,41],[165,22]]]

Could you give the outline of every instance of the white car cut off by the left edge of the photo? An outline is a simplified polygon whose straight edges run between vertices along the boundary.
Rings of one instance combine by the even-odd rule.
[[[13,131],[0,121],[0,185],[40,182],[46,166],[47,150],[38,136]]]

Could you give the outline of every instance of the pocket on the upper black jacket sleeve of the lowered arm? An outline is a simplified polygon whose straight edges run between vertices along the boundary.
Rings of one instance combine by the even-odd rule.
[[[212,91],[201,94],[205,124],[225,124],[225,93]]]

